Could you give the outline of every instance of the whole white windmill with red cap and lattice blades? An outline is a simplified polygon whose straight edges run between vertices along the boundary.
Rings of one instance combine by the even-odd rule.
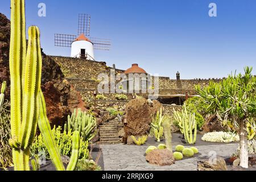
[[[76,35],[55,34],[55,46],[71,47],[71,57],[95,60],[94,49],[110,50],[109,39],[88,38],[90,36],[90,15],[79,14]]]

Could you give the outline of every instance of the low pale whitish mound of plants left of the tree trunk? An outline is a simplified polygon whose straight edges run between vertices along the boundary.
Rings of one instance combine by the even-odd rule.
[[[201,139],[207,142],[221,142],[221,143],[237,142],[240,140],[239,136],[236,133],[223,132],[223,131],[204,134],[204,136]]]

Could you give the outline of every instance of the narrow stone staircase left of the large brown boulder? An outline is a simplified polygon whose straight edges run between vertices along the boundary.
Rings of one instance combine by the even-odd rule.
[[[120,139],[118,137],[118,123],[110,121],[100,126],[100,143],[101,144],[117,144]]]

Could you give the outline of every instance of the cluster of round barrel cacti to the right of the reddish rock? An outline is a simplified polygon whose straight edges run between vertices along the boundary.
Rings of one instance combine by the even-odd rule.
[[[184,146],[181,146],[181,145],[177,145],[175,147],[175,151],[174,152],[174,158],[175,160],[181,160],[180,159],[180,156],[182,155],[182,158],[183,156],[186,156],[186,157],[192,157],[194,156],[195,154],[198,154],[199,151],[196,147],[190,147],[190,148],[185,148]],[[181,154],[181,155],[180,155]],[[176,156],[175,156],[176,155]],[[177,159],[176,159],[177,158]]]

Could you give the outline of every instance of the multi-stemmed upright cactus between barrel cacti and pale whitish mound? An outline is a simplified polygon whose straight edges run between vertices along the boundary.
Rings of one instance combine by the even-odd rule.
[[[174,111],[174,117],[179,123],[180,131],[184,135],[185,141],[189,144],[196,143],[197,126],[195,120],[195,113],[189,113],[186,106],[181,113]]]

